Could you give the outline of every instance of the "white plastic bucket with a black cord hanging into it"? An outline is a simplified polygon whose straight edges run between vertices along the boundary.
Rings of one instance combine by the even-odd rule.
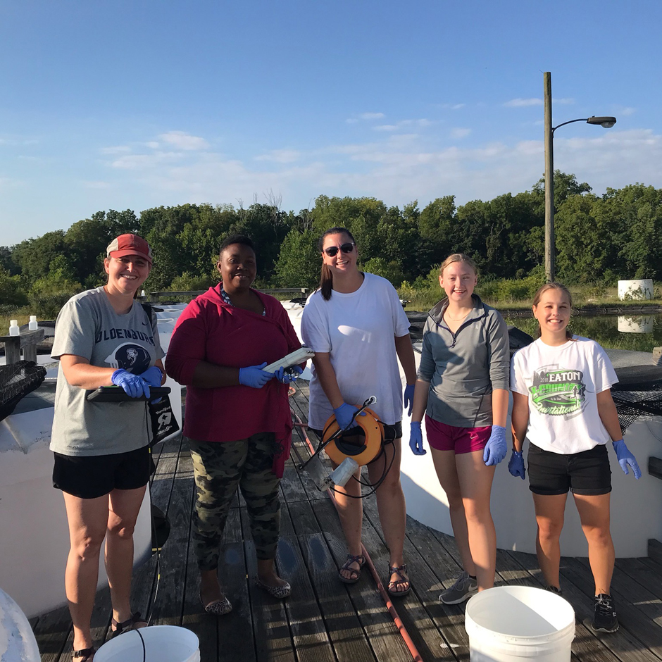
[[[145,662],[200,662],[198,637],[175,625],[153,625],[139,630],[145,642]],[[125,632],[106,642],[94,655],[94,662],[142,662],[138,631]]]

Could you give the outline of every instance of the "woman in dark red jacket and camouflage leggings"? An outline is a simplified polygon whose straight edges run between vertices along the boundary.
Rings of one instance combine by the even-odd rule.
[[[263,368],[301,343],[280,302],[251,288],[256,257],[249,237],[225,239],[217,266],[223,280],[185,308],[165,370],[187,386],[184,434],[196,482],[193,540],[200,599],[208,613],[222,616],[232,605],[218,582],[219,547],[237,487],[249,511],[256,586],[278,598],[291,590],[275,572],[274,558],[278,487],[292,442],[287,384],[296,374]]]

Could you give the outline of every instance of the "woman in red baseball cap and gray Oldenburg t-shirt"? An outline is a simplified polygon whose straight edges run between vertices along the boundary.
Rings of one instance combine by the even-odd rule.
[[[144,398],[165,380],[156,318],[135,295],[151,270],[149,244],[120,235],[108,244],[108,282],[76,294],[58,314],[52,356],[60,363],[51,434],[53,485],[64,496],[70,551],[65,589],[73,621],[73,662],[91,662],[90,619],[106,539],[115,634],[144,627],[129,597],[133,530],[153,470]],[[127,401],[95,402],[87,391],[121,387]],[[141,401],[135,400],[140,398]]]

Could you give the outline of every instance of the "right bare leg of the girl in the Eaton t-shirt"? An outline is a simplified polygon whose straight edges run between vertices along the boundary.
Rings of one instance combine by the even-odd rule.
[[[582,520],[582,530],[589,544],[589,563],[595,582],[595,594],[611,589],[614,549],[609,530],[610,494],[575,494],[575,504]]]

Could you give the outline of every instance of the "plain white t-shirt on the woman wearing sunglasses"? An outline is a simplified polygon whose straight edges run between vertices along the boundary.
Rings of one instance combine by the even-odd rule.
[[[402,418],[402,384],[394,337],[407,335],[409,320],[393,285],[366,273],[356,292],[332,292],[329,301],[318,290],[308,297],[301,318],[301,337],[314,351],[329,352],[344,401],[370,408],[387,425]],[[322,430],[333,408],[313,366],[308,424]]]

